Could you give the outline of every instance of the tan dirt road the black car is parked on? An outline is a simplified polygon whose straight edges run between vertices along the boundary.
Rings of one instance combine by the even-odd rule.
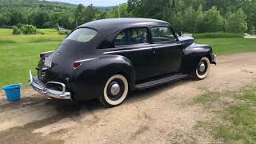
[[[212,143],[198,121],[214,112],[194,104],[207,91],[234,91],[256,81],[256,53],[218,57],[203,81],[190,78],[130,94],[113,109],[98,101],[47,100],[23,90],[20,102],[0,96],[0,143]],[[229,102],[229,101],[227,101]]]

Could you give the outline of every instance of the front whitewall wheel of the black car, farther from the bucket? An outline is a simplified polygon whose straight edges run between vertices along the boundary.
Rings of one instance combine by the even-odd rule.
[[[193,70],[193,77],[197,80],[202,80],[207,77],[210,72],[210,60],[209,58],[202,58],[198,63],[198,66]]]

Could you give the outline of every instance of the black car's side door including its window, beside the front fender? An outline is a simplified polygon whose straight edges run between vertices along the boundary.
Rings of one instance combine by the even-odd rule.
[[[182,45],[178,42],[169,26],[153,26],[150,28],[155,54],[154,73],[158,75],[172,74],[180,70],[182,64]]]

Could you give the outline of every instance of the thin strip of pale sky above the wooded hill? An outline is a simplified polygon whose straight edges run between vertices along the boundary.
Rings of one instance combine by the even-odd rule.
[[[127,2],[127,0],[49,0],[58,2],[68,2],[79,4],[82,3],[84,6],[93,4],[94,6],[116,6],[120,3]]]

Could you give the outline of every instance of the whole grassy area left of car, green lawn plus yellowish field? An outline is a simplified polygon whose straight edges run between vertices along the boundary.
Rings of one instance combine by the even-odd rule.
[[[45,34],[13,35],[10,29],[0,29],[0,86],[26,85],[28,70],[37,66],[39,54],[56,49],[65,37],[57,30],[40,31]]]

